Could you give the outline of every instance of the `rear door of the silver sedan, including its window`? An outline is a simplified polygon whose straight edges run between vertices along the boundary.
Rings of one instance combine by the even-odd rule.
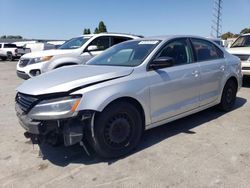
[[[200,66],[200,106],[218,99],[225,74],[224,53],[210,41],[192,38],[196,61]]]

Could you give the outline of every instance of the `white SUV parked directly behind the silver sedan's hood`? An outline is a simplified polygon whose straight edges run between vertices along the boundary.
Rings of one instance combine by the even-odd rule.
[[[50,70],[84,64],[105,49],[140,36],[118,33],[82,35],[65,42],[59,49],[25,54],[17,64],[17,75],[29,79]]]

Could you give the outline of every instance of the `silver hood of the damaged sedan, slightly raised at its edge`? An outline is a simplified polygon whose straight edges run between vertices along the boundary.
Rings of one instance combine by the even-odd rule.
[[[75,65],[55,69],[25,81],[17,88],[20,93],[44,95],[68,92],[88,84],[131,74],[132,67]]]

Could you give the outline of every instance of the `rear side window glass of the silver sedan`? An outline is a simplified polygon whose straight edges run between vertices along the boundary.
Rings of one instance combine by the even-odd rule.
[[[202,39],[191,39],[197,61],[223,58],[223,52],[213,43]]]

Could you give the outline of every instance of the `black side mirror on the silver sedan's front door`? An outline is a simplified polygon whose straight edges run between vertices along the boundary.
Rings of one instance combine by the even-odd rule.
[[[166,67],[171,67],[174,65],[174,59],[172,57],[159,57],[153,60],[153,62],[150,63],[149,68],[150,69],[162,69]]]

